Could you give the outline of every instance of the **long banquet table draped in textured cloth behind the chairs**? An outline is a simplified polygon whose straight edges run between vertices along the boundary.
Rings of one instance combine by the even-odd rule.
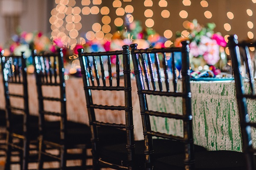
[[[3,87],[2,77],[0,77],[0,87]],[[122,83],[122,82],[121,82]],[[135,139],[143,139],[142,122],[140,116],[140,105],[137,96],[136,81],[132,79],[132,104],[134,116]],[[29,88],[29,111],[33,115],[38,114],[38,100],[33,74],[28,75]],[[20,93],[19,88],[14,88],[16,93]],[[177,90],[181,90],[181,83],[178,82]],[[246,90],[248,85],[246,83]],[[235,83],[233,81],[191,81],[192,92],[192,115],[195,144],[206,147],[208,150],[235,150],[241,151],[241,132],[239,128],[239,114],[235,96]],[[44,90],[47,96],[57,96],[60,91],[56,88]],[[103,105],[124,105],[124,93],[113,91],[92,91],[93,102]],[[66,80],[67,95],[67,117],[75,122],[88,124],[85,95],[81,78],[69,77]],[[147,96],[149,109],[156,111],[167,111],[171,113],[181,113],[181,98]],[[3,88],[0,88],[0,109],[4,109],[5,100]],[[13,105],[21,106],[22,101],[11,98]],[[103,103],[102,103],[103,102]],[[249,113],[255,113],[256,101],[248,100]],[[49,111],[59,111],[58,103],[49,102]],[[97,118],[108,122],[125,123],[125,114],[122,111],[113,111],[112,114],[105,110],[97,110]],[[251,120],[255,120],[255,115],[250,115]],[[160,130],[164,133],[183,136],[182,121],[152,117],[152,130]],[[253,131],[253,140],[255,130]]]

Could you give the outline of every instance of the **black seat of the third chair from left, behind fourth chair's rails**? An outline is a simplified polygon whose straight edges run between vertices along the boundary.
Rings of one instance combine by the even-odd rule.
[[[172,141],[169,139],[153,139],[154,154],[151,159],[158,159],[163,156],[177,155],[184,153],[184,144],[182,142]],[[166,149],[168,148],[168,149]],[[135,159],[136,166],[142,167],[145,162],[145,142],[135,141]],[[195,145],[197,152],[206,151],[204,147]],[[102,147],[100,150],[100,157],[103,161],[108,161],[113,164],[125,165],[127,160],[127,149],[126,144],[115,144]]]

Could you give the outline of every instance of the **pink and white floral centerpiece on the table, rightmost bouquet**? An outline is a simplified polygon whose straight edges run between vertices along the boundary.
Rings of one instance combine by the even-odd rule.
[[[192,69],[198,71],[202,70],[205,65],[214,65],[216,67],[224,65],[224,62],[220,63],[220,56],[223,56],[224,47],[227,45],[227,42],[220,33],[215,33],[213,31],[215,24],[207,23],[204,27],[198,24],[197,20],[193,20],[192,22],[189,22],[187,26],[189,34],[184,36],[180,32],[177,32],[177,39],[175,40],[174,45],[180,47],[181,41],[190,41],[189,57]],[[219,70],[214,71],[214,74],[218,73],[220,73]]]

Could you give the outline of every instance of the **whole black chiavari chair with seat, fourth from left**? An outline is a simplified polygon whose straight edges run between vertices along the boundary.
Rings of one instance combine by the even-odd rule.
[[[181,92],[177,91],[174,52],[179,52],[182,55]],[[171,86],[169,85],[171,80],[168,75],[167,54],[172,56],[173,90],[171,90]],[[154,63],[151,61],[151,55],[154,56]],[[241,165],[242,153],[234,151],[206,151],[204,148],[193,143],[188,42],[183,41],[182,47],[179,48],[137,49],[137,44],[132,44],[131,56],[140,100],[145,140],[145,168],[147,170],[207,170],[211,168],[214,170],[227,170],[236,169],[238,164]],[[161,58],[159,56],[162,56],[163,62],[161,64]],[[148,75],[148,71],[150,75]],[[164,82],[162,79],[164,79]],[[182,114],[150,110],[147,103],[147,95],[182,98]],[[182,120],[183,136],[175,136],[152,130],[150,122],[151,116]],[[154,154],[157,153],[159,146],[157,146],[158,144],[154,141],[157,139],[152,139],[153,136],[169,140],[169,145],[161,145],[160,148],[162,147],[163,150],[168,150],[169,152],[176,152],[176,155],[165,156],[163,154],[162,157],[158,156],[158,158],[156,158]],[[236,159],[237,157],[239,159]],[[241,167],[239,168],[241,169]]]

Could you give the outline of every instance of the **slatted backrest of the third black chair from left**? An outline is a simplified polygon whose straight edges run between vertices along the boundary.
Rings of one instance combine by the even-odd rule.
[[[89,123],[92,132],[92,148],[93,156],[97,156],[99,151],[98,141],[99,135],[97,132],[97,126],[114,127],[126,130],[126,148],[128,153],[128,161],[132,161],[134,158],[134,125],[131,103],[131,69],[130,69],[130,51],[129,46],[122,46],[123,50],[120,51],[107,51],[107,52],[95,52],[85,53],[84,49],[79,49],[79,61],[81,65],[81,74],[84,83],[84,91],[86,96],[87,111],[89,115]],[[122,55],[122,64],[119,62],[119,57]],[[103,62],[103,57],[107,57],[107,63]],[[116,62],[111,63],[111,57],[116,57]],[[91,61],[93,65],[91,65]],[[100,76],[98,71],[98,64],[100,65],[102,84],[100,84]],[[112,64],[116,65],[116,68],[112,68]],[[108,80],[106,80],[104,65],[108,68]],[[120,69],[123,66],[123,71]],[[112,71],[113,69],[113,71]],[[94,73],[93,73],[94,72]],[[116,86],[113,86],[112,72],[116,72]],[[120,73],[123,73],[124,86],[120,86]],[[106,81],[109,85],[106,85]],[[125,93],[125,106],[109,106],[109,105],[96,105],[93,103],[92,91],[124,91]],[[111,111],[125,111],[125,124],[99,122],[95,116],[95,109],[104,109]],[[109,114],[109,113],[108,113]],[[125,133],[125,132],[124,132]],[[106,139],[102,139],[106,140]],[[129,163],[130,163],[129,162]]]

